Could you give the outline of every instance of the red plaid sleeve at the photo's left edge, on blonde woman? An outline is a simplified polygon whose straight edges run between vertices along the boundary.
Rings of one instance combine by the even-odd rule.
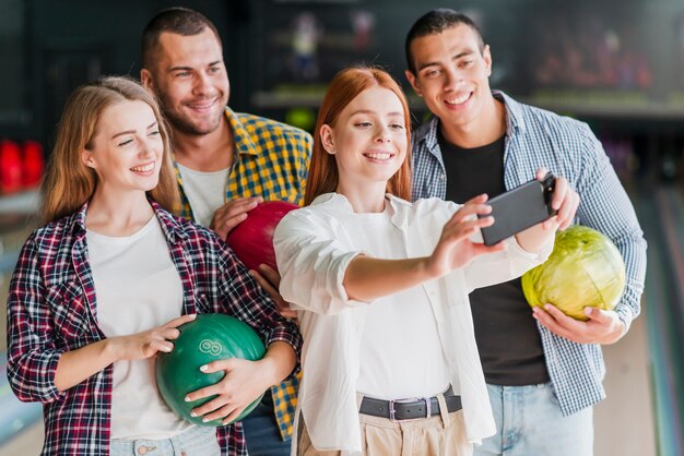
[[[66,393],[55,386],[62,349],[52,341],[39,255],[32,238],[24,244],[8,297],[8,380],[22,401],[51,403]]]

